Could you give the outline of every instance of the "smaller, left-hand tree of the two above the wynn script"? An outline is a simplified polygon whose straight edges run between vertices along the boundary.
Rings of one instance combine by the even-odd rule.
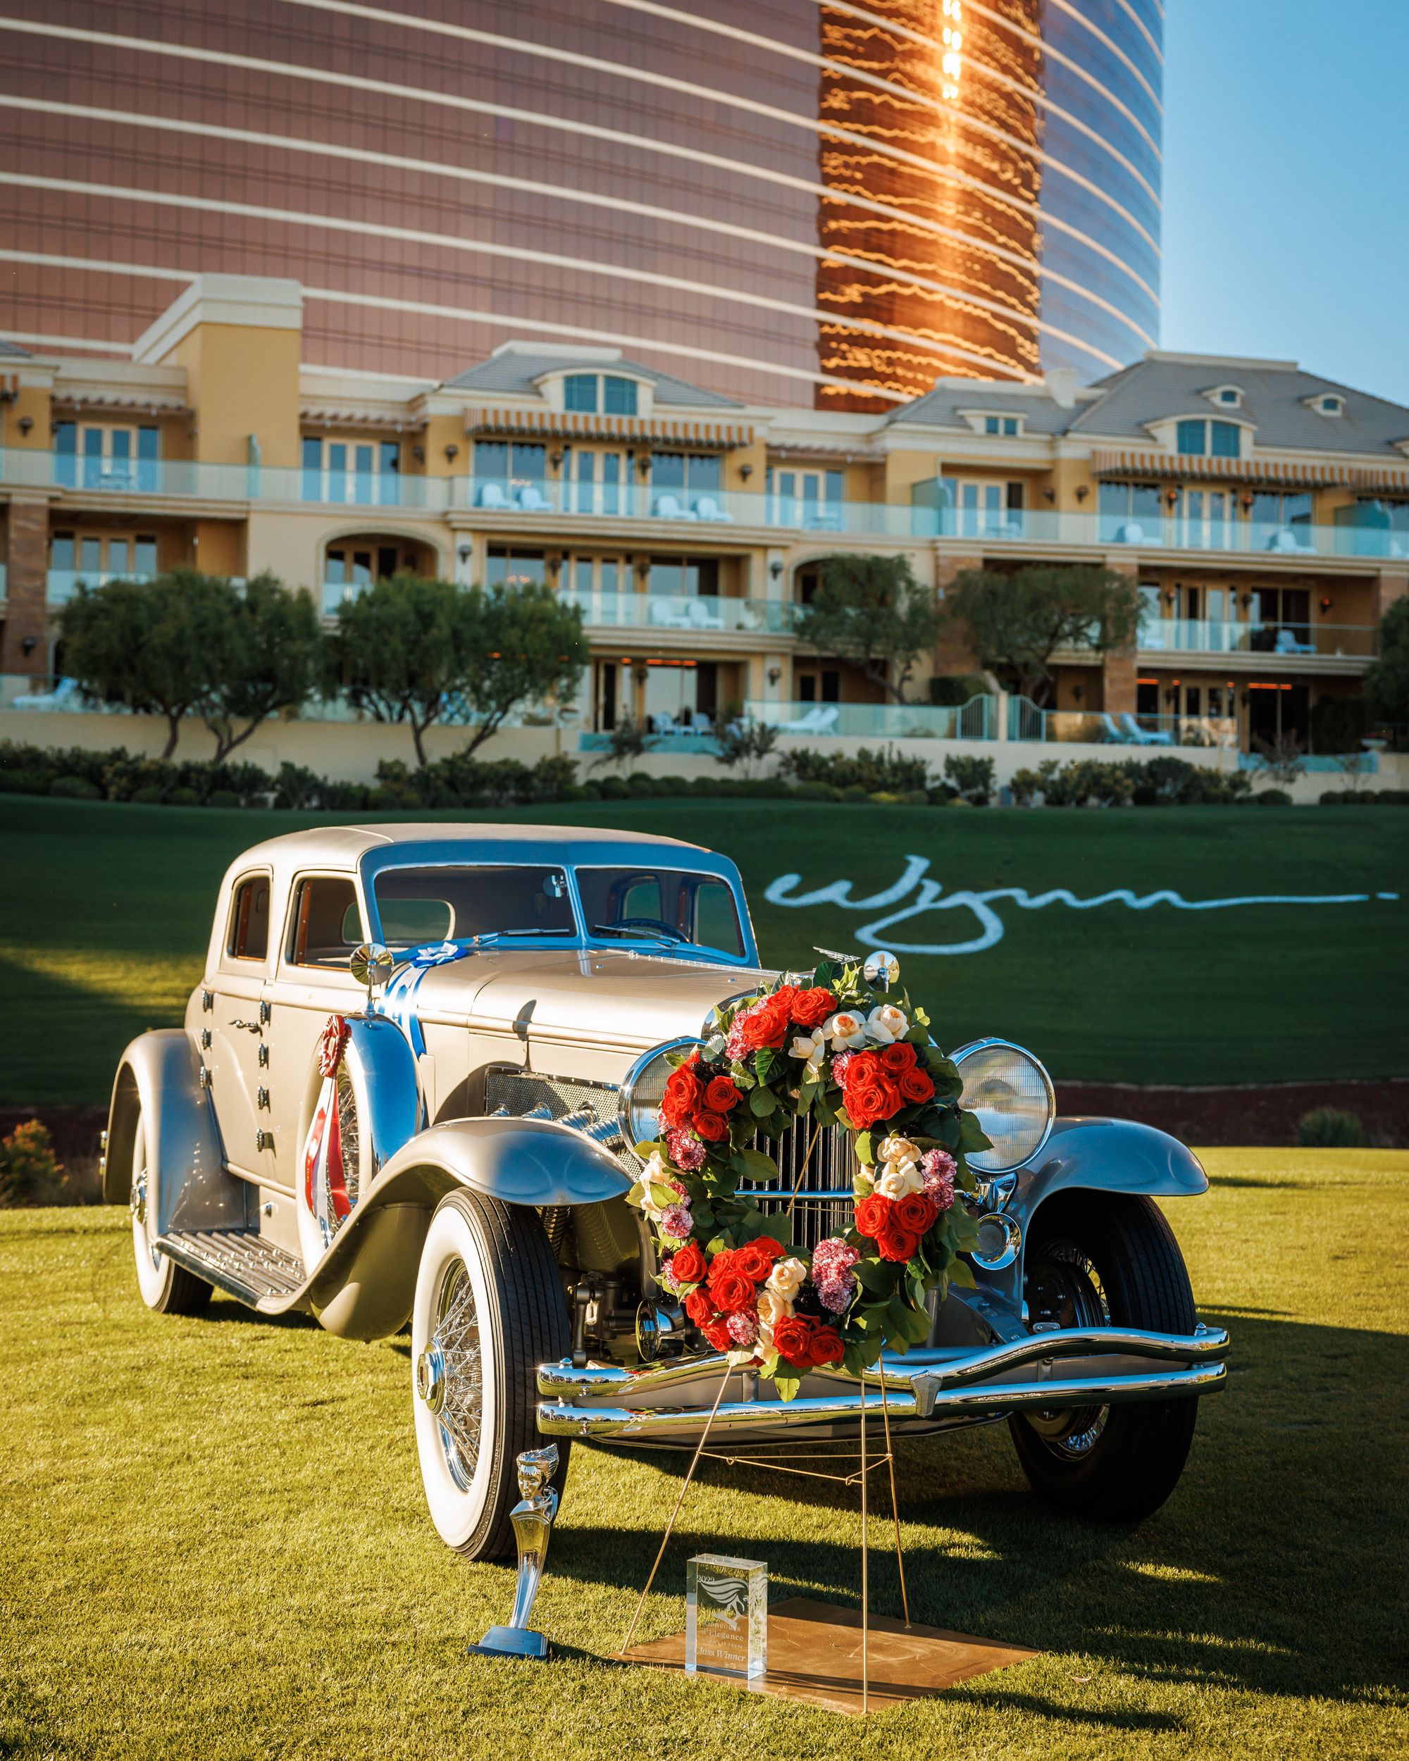
[[[907,556],[823,556],[817,592],[794,620],[817,653],[849,660],[896,703],[905,701],[914,662],[939,636],[930,588]]]

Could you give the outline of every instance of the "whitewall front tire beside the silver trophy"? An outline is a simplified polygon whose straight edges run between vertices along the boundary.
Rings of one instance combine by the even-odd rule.
[[[472,1192],[435,1210],[410,1312],[412,1404],[435,1530],[468,1558],[514,1550],[516,1458],[539,1446],[539,1363],[567,1354],[562,1278],[537,1215]],[[558,1444],[557,1485],[567,1474]]]

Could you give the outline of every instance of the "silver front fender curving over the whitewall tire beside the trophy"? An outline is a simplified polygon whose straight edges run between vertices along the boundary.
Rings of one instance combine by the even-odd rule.
[[[534,1118],[430,1125],[391,1157],[306,1286],[329,1333],[384,1338],[410,1314],[432,1212],[456,1187],[502,1205],[602,1205],[631,1180],[590,1138]]]

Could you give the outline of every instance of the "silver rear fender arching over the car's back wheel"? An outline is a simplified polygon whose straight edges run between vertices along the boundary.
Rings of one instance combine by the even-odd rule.
[[[139,1111],[146,1120],[148,1205],[155,1185],[157,1233],[247,1227],[250,1187],[225,1173],[210,1090],[201,1087],[201,1055],[185,1028],[139,1034],[118,1060],[102,1169],[102,1196],[111,1205],[125,1205],[130,1194]]]

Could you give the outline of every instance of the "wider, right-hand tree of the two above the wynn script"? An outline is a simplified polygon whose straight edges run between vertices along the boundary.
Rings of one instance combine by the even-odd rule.
[[[1059,648],[1131,648],[1140,625],[1134,581],[1095,564],[1029,564],[1011,574],[965,569],[944,609],[969,625],[979,666],[1039,704],[1051,694],[1050,660]]]

